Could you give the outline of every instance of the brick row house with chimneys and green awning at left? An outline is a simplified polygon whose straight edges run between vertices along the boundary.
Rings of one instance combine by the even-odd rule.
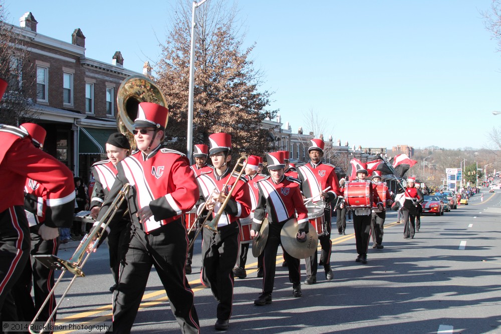
[[[90,166],[105,158],[105,142],[117,132],[117,91],[122,81],[140,73],[123,67],[116,52],[111,64],[85,57],[85,36],[80,29],[71,43],[37,32],[32,13],[12,26],[27,50],[23,73],[33,73],[26,98],[37,124],[47,130],[44,149],[65,163],[84,182]],[[7,24],[6,24],[7,25]],[[35,80],[36,79],[36,80]]]

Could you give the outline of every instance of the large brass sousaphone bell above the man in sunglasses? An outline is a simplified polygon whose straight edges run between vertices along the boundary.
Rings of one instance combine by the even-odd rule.
[[[132,135],[132,125],[137,118],[137,110],[141,102],[156,103],[167,108],[165,96],[153,81],[139,75],[130,76],[122,82],[117,92],[117,128],[127,137],[132,149],[136,146]],[[164,128],[167,127],[167,120]]]

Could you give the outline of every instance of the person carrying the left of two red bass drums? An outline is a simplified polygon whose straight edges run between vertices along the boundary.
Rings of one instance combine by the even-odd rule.
[[[363,164],[357,169],[357,179],[351,182],[367,182],[367,165]],[[373,200],[377,203],[377,208],[382,211],[383,204],[379,201],[379,196],[375,185],[371,186]],[[371,209],[355,209],[353,213],[353,227],[355,228],[355,243],[357,245],[358,256],[356,262],[367,263],[367,249],[369,248],[369,237],[371,234]]]

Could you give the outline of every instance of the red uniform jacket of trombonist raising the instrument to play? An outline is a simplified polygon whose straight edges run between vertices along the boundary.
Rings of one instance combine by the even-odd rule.
[[[202,174],[196,178],[200,188],[200,196],[197,202],[198,205],[205,206],[205,201],[209,200],[214,189],[217,192],[223,191],[224,194],[228,194],[229,190],[235,183],[238,174],[234,173],[230,176],[231,169],[227,168],[222,175],[217,175],[214,170],[210,174]],[[228,182],[229,179],[229,182]],[[223,189],[224,184],[227,186]],[[214,210],[212,211],[212,217],[215,217],[222,203],[216,203]],[[228,204],[224,208],[224,212],[221,214],[219,221],[217,222],[217,227],[226,226],[230,223],[236,221],[238,218],[246,218],[250,214],[250,191],[247,186],[247,179],[240,176],[240,179],[236,183],[236,187],[231,193],[231,197]],[[204,214],[204,212],[201,212]]]

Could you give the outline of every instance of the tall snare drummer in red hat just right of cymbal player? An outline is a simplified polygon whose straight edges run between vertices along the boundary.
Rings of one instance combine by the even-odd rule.
[[[314,201],[325,201],[324,217],[327,225],[327,235],[318,237],[322,247],[320,255],[320,265],[324,266],[325,278],[331,280],[334,275],[331,268],[331,206],[330,203],[341,195],[339,189],[338,177],[335,173],[335,167],[322,162],[324,156],[324,141],[322,139],[312,139],[308,148],[310,162],[298,168],[299,179],[302,182],[301,187],[305,197],[314,197]],[[329,191],[324,189],[330,187]],[[316,198],[315,198],[316,197]],[[306,259],[305,284],[315,284],[317,282],[318,254],[315,252],[310,258]]]

